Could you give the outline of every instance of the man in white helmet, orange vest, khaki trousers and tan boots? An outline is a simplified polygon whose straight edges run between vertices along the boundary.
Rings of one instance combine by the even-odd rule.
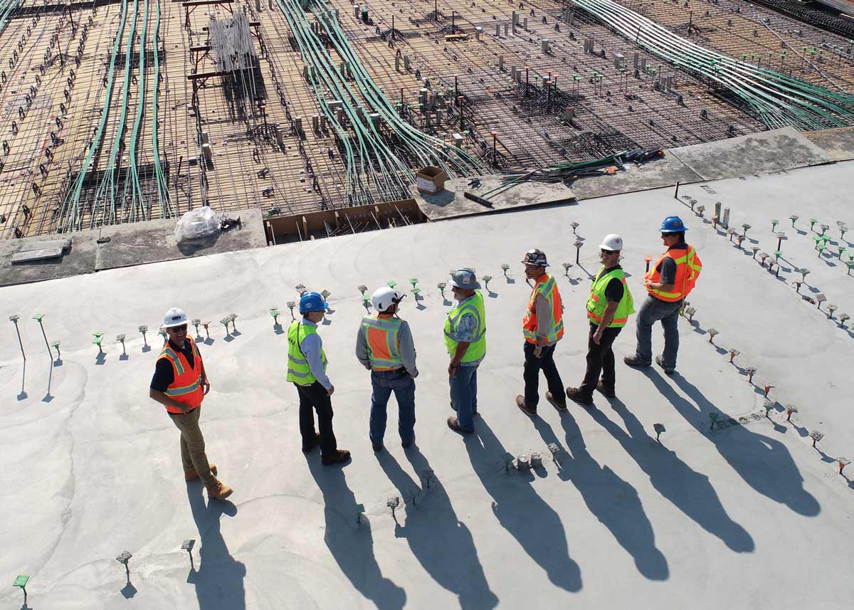
[[[208,489],[208,498],[225,500],[231,487],[216,478],[216,465],[205,455],[205,439],[199,429],[202,400],[211,384],[196,343],[187,338],[187,314],[171,308],[163,316],[168,337],[155,364],[149,396],[166,407],[175,427],[181,431],[181,462],[184,479],[201,478]]]

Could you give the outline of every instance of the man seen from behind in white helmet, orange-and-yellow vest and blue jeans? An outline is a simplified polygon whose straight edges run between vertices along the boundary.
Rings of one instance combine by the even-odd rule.
[[[356,358],[371,371],[371,445],[383,450],[386,406],[395,392],[398,408],[397,431],[407,449],[415,440],[415,346],[406,320],[397,310],[406,294],[389,286],[374,291],[371,304],[377,314],[362,318],[356,335]]]

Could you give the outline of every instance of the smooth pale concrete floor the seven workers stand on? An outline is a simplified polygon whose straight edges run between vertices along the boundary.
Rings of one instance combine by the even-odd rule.
[[[716,198],[732,207],[734,223],[752,220],[748,236],[769,249],[770,210],[854,220],[845,206],[852,167],[724,180],[705,184],[713,194],[702,185],[687,194],[706,208]],[[32,577],[36,610],[851,607],[854,484],[833,458],[852,453],[854,337],[800,300],[792,273],[776,279],[687,203],[672,189],[644,191],[3,288],[0,607],[20,607],[20,590],[8,586],[18,574]],[[623,365],[635,346],[632,316],[615,344],[617,400],[597,395],[594,409],[572,404],[565,414],[541,400],[537,418],[519,412],[524,252],[540,247],[553,263],[566,328],[556,361],[564,385],[576,385],[600,239],[623,234],[640,305],[644,257],[662,250],[658,227],[668,214],[686,220],[705,265],[689,299],[694,324],[679,322],[677,374]],[[573,221],[585,245],[567,277],[560,263],[575,261]],[[793,236],[783,252],[809,255],[808,238]],[[810,279],[854,311],[854,278],[816,262]],[[436,283],[466,265],[493,279],[484,290],[482,417],[476,434],[461,438],[445,424],[450,303]],[[392,401],[387,450],[374,455],[368,373],[353,355],[365,312],[357,286],[395,280],[408,289],[411,278],[424,289],[401,312],[418,349],[418,447],[401,449]],[[286,327],[297,284],[331,293],[334,311],[319,331],[336,387],[336,436],[354,455],[344,467],[300,451],[284,328],[267,314],[282,309]],[[212,384],[202,429],[219,476],[235,488],[230,501],[208,502],[200,484],[184,484],[178,431],[148,398],[156,328],[172,306],[213,320],[200,344]],[[37,312],[48,339],[61,340],[61,366],[50,366]],[[226,337],[216,320],[231,313],[239,334]],[[26,377],[9,314],[20,314]],[[149,325],[150,351],[140,324]],[[714,344],[711,327],[720,331]],[[91,344],[96,331],[105,333],[103,356]],[[113,343],[121,332],[126,359]],[[657,326],[653,345],[661,344]],[[740,350],[734,364],[729,347]],[[753,384],[745,367],[757,367]],[[775,385],[768,419],[766,381]],[[789,403],[800,408],[791,423],[779,411]],[[711,413],[747,423],[712,431]],[[660,444],[656,423],[666,429]],[[814,430],[826,435],[817,449],[806,436]],[[508,456],[533,452],[545,456],[543,467],[507,472]],[[393,515],[386,502],[395,496]],[[188,538],[191,555],[180,549]],[[114,559],[124,550],[133,554],[129,582]]]

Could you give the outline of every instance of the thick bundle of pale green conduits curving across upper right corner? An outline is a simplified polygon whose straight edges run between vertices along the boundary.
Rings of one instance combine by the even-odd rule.
[[[731,91],[736,103],[769,128],[818,130],[854,122],[854,96],[847,91],[830,91],[705,49],[611,0],[570,1],[676,70]]]

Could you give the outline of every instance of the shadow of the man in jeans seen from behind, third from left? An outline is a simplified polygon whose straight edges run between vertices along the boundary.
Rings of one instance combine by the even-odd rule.
[[[407,459],[415,472],[430,469],[415,446],[407,449]],[[430,478],[420,487],[388,451],[377,454],[377,461],[406,501],[406,522],[395,525],[395,537],[407,539],[418,563],[436,583],[458,596],[463,610],[496,607],[498,597],[489,589],[471,532],[457,519],[439,479]]]

